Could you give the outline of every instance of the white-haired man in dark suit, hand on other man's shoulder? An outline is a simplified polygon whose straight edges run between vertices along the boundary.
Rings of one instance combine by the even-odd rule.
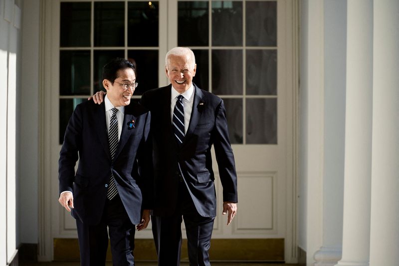
[[[237,176],[223,101],[193,83],[194,53],[175,47],[166,54],[170,84],[147,91],[142,104],[151,111],[154,160],[152,230],[159,266],[180,265],[184,220],[190,265],[209,266],[216,216],[213,145],[223,186],[227,225],[237,211]],[[102,92],[94,95],[102,101]]]

